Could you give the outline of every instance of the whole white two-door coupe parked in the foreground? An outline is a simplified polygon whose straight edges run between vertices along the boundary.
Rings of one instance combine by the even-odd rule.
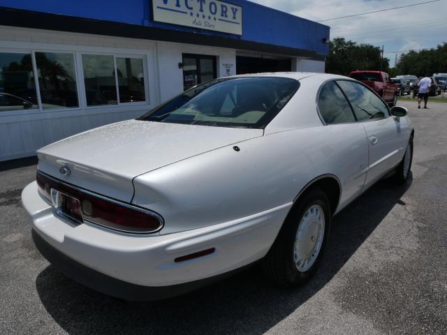
[[[413,135],[404,107],[348,77],[225,77],[38,150],[22,202],[45,258],[108,295],[171,297],[256,261],[299,285],[332,216],[406,181]]]

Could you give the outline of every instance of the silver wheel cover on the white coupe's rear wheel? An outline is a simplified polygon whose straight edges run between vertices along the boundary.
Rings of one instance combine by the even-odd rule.
[[[293,260],[298,271],[305,272],[314,265],[323,245],[324,230],[323,208],[313,204],[302,216],[295,235]]]

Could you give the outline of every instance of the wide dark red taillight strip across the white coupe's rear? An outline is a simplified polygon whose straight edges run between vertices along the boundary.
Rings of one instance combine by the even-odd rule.
[[[82,219],[108,228],[122,230],[124,232],[147,233],[159,230],[163,225],[163,218],[152,211],[135,207],[131,204],[119,202],[103,195],[91,193],[75,186],[65,184],[57,179],[52,179],[42,172],[37,172],[37,184],[41,192],[51,201],[51,189],[70,195],[79,200],[82,208]],[[71,218],[71,204],[66,202],[64,207],[59,209],[64,211]],[[77,221],[80,221],[79,219]]]

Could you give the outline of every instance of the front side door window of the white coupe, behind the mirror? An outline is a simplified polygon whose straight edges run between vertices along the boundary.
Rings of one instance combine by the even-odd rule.
[[[386,103],[362,84],[349,80],[339,80],[337,84],[351,103],[358,121],[383,119],[390,115]]]

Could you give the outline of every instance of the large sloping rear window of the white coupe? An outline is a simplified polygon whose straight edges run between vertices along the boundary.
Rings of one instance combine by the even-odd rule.
[[[173,124],[263,128],[298,90],[284,77],[217,79],[193,87],[140,117]]]

